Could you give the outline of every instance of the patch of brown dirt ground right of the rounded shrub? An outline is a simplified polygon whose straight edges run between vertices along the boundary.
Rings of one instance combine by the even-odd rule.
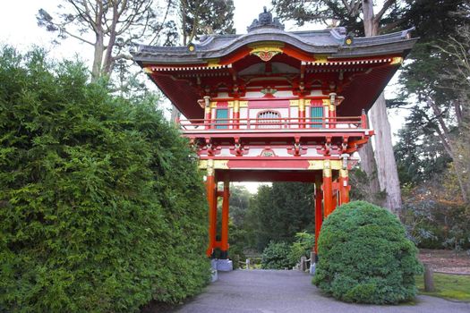
[[[470,255],[466,251],[456,253],[451,250],[421,249],[419,258],[431,264],[436,272],[470,275]]]

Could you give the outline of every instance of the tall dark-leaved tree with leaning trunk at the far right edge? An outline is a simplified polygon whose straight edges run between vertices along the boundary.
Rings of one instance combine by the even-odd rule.
[[[452,163],[460,198],[468,203],[470,150],[470,4],[449,0],[435,9],[437,0],[418,2],[410,10],[408,21],[417,25],[422,37],[401,77],[402,94],[412,114],[407,124],[421,124],[430,136],[436,136]]]

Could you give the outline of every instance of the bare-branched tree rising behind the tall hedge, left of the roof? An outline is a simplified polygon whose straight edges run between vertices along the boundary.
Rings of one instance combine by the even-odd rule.
[[[58,38],[75,38],[93,48],[92,79],[110,75],[116,62],[131,60],[132,41],[158,38],[171,1],[158,8],[154,0],[63,0],[58,13],[40,9],[38,25]],[[158,11],[163,9],[163,16]]]

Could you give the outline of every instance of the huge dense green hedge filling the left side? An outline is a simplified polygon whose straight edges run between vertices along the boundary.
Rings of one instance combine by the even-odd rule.
[[[132,312],[201,290],[201,177],[155,108],[0,52],[0,311]]]

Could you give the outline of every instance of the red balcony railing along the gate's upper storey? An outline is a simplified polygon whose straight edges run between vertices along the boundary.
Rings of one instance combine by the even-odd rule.
[[[223,118],[179,121],[183,131],[367,129],[367,116]]]

